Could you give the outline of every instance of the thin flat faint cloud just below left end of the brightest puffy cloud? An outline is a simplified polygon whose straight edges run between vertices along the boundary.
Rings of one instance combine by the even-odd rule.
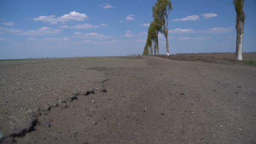
[[[34,36],[34,35],[54,35],[59,34],[62,30],[61,29],[53,29],[51,27],[42,27],[36,30],[28,30],[24,32],[17,33],[16,35],[27,35],[27,36]]]

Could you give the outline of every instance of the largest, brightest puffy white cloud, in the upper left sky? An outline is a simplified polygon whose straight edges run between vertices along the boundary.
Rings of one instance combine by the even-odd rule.
[[[55,15],[50,16],[39,16],[34,18],[34,21],[43,21],[48,22],[50,24],[57,24],[60,22],[67,22],[67,21],[84,21],[89,19],[85,13],[78,13],[76,11],[71,11],[69,14],[65,14],[63,16],[56,17]]]

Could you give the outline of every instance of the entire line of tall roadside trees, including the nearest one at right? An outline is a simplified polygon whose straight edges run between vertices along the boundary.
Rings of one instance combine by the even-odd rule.
[[[245,24],[245,13],[243,11],[245,0],[233,0],[236,11],[236,60],[243,60],[243,32]],[[172,3],[170,0],[157,0],[152,8],[154,20],[150,22],[148,29],[147,41],[144,47],[143,55],[159,54],[158,33],[165,36],[166,40],[166,54],[169,55],[168,45],[168,16],[172,10]]]

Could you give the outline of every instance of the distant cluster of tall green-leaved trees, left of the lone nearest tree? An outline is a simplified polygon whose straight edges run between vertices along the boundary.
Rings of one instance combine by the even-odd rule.
[[[157,0],[152,8],[154,20],[150,22],[143,55],[159,54],[158,33],[165,36],[166,54],[169,55],[168,16],[172,10],[170,0]]]

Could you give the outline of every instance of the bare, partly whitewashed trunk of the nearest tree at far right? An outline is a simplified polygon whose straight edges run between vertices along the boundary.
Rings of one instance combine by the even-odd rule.
[[[243,21],[237,21],[236,25],[237,29],[237,43],[236,43],[236,51],[235,51],[235,59],[242,61],[242,53],[243,53]]]

